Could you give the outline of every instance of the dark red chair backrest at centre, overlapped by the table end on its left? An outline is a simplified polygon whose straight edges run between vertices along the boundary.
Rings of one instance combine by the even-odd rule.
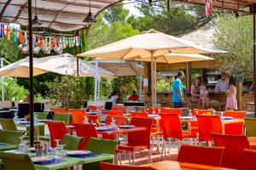
[[[143,145],[150,149],[150,130],[153,124],[153,119],[132,117],[130,124],[135,127],[145,127],[146,130],[128,133],[128,145]]]

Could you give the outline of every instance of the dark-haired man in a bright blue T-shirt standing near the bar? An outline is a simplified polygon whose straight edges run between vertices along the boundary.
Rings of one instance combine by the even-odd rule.
[[[177,72],[177,78],[172,82],[172,103],[174,108],[183,108],[184,91],[183,91],[183,71]]]

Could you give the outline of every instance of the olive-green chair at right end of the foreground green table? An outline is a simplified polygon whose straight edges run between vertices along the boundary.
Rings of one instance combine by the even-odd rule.
[[[90,138],[87,143],[86,150],[90,150],[96,153],[114,155],[114,152],[117,149],[118,144],[118,140]],[[106,160],[106,162],[112,163],[113,159]],[[93,163],[84,164],[83,170],[85,169],[100,170],[100,162],[97,161]]]

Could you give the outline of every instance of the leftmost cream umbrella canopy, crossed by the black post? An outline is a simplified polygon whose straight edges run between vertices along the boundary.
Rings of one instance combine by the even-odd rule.
[[[38,59],[34,59],[34,63]],[[10,65],[6,65],[0,69],[0,77],[29,77],[29,61],[28,57],[25,59],[20,59],[19,61],[12,63]],[[48,71],[45,71],[44,69],[39,69],[34,67],[33,68],[34,76],[38,76],[40,74],[44,74]]]

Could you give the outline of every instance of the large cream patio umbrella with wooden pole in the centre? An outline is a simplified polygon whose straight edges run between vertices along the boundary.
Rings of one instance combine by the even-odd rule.
[[[218,51],[203,48],[182,38],[150,30],[137,36],[128,37],[100,48],[92,49],[79,56],[101,59],[151,59],[151,92],[152,105],[156,105],[155,76],[156,60],[154,57],[164,54],[209,54]]]

